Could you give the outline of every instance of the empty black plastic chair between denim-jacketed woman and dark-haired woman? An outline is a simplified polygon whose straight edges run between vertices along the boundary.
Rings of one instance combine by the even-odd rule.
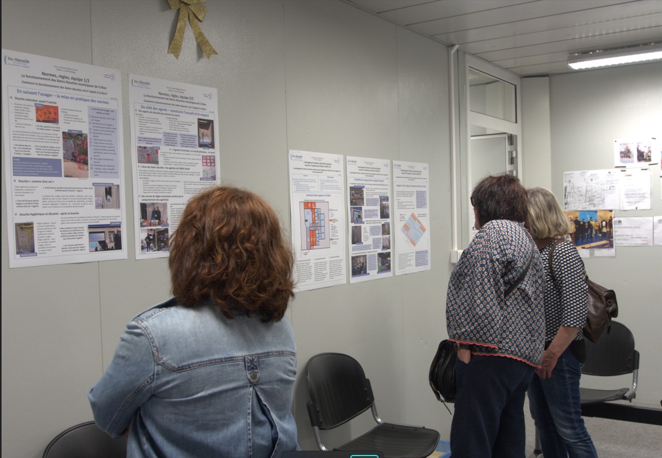
[[[320,430],[332,430],[368,409],[377,426],[334,450],[381,451],[384,458],[424,458],[439,443],[439,433],[423,426],[385,423],[377,414],[375,396],[363,368],[353,357],[342,353],[320,353],[308,360],[307,402],[310,425],[320,450]]]

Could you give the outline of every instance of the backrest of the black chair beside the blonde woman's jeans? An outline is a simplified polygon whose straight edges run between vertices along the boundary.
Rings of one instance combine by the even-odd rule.
[[[631,374],[639,369],[639,352],[634,349],[634,336],[622,323],[612,320],[611,329],[600,340],[586,342],[586,362],[582,373],[587,375]]]

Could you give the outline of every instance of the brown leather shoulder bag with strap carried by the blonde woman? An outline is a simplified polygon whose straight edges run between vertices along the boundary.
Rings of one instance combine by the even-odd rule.
[[[549,248],[549,276],[552,281],[556,281],[554,271],[551,267],[551,253],[555,246],[563,242],[564,239],[555,240]],[[582,333],[584,337],[593,342],[598,342],[604,330],[609,332],[612,326],[612,318],[618,316],[618,302],[616,302],[616,293],[614,290],[598,285],[589,279],[584,273],[584,281],[589,289],[589,298],[587,303],[588,314]]]

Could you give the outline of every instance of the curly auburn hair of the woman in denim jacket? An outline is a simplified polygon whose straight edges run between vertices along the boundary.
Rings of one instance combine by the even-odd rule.
[[[169,240],[172,293],[183,306],[211,300],[233,311],[283,318],[294,297],[293,255],[273,209],[257,195],[218,186],[191,198]]]

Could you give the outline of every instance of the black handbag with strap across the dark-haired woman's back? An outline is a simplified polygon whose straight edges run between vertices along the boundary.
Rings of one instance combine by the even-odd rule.
[[[526,273],[528,273],[531,262],[534,259],[534,252],[532,250],[520,277],[504,292],[504,298],[508,297],[517,285],[524,280],[524,277],[526,277]],[[435,353],[434,358],[432,358],[432,364],[430,364],[430,372],[428,373],[430,388],[432,388],[432,392],[434,392],[437,400],[444,402],[444,405],[446,405],[446,402],[453,402],[455,400],[455,356],[455,344],[448,339],[444,339],[439,343],[437,353]],[[448,406],[446,408],[448,409]],[[448,409],[448,412],[450,412],[450,409]]]

